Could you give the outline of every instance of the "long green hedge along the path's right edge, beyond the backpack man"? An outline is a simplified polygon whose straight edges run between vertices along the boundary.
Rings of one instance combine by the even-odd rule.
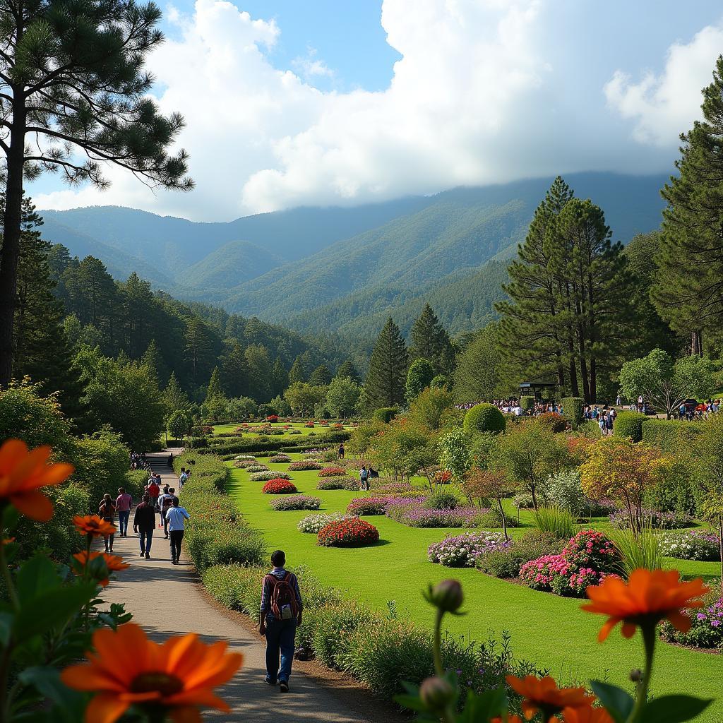
[[[174,459],[174,469],[181,467],[193,470],[180,495],[191,516],[184,545],[199,573],[213,565],[260,565],[265,558],[262,538],[226,495],[228,467],[217,457],[193,451]]]

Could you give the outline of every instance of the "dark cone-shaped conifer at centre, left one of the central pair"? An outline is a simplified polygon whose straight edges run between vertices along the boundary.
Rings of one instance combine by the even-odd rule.
[[[377,337],[364,382],[373,408],[397,406],[404,402],[409,354],[399,327],[390,317]]]

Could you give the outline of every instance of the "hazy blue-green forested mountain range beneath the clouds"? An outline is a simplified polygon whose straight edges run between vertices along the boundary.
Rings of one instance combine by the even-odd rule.
[[[613,239],[660,223],[667,176],[565,177],[605,212]],[[425,302],[453,333],[494,317],[500,284],[552,179],[461,187],[352,208],[296,208],[197,223],[117,206],[42,211],[43,236],[112,275],[301,333],[406,333]]]

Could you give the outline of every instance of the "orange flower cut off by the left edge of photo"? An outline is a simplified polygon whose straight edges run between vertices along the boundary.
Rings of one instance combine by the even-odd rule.
[[[48,464],[51,449],[38,447],[28,452],[21,440],[7,440],[0,447],[0,502],[10,502],[31,520],[47,522],[53,503],[38,492],[40,487],[60,484],[73,473],[72,464]]]

